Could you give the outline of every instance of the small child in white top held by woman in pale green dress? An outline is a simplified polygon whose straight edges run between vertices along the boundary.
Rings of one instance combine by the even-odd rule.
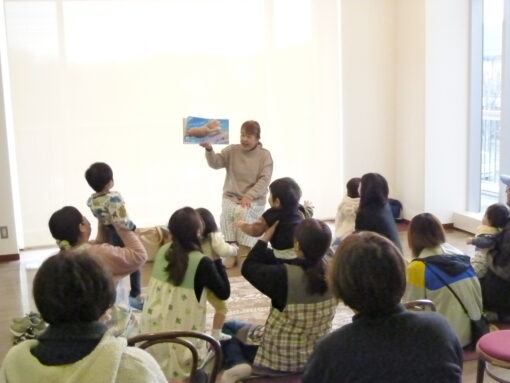
[[[225,242],[223,234],[218,230],[212,213],[205,208],[195,209],[202,218],[203,230],[201,235],[202,252],[209,258],[214,259],[213,253],[221,257],[224,264],[233,266],[237,254],[237,246]],[[232,260],[234,262],[232,262]],[[227,267],[227,266],[225,266]],[[228,267],[227,267],[228,268]],[[217,340],[228,340],[230,335],[221,332],[227,315],[226,301],[219,299],[212,291],[207,290],[207,300],[214,307],[214,318],[211,335]]]

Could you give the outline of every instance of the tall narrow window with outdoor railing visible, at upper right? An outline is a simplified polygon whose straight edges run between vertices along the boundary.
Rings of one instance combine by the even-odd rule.
[[[472,2],[469,210],[499,200],[504,0]]]

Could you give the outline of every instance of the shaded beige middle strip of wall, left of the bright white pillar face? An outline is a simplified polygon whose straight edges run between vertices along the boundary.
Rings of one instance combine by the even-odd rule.
[[[425,209],[425,4],[396,1],[395,140],[404,217]]]

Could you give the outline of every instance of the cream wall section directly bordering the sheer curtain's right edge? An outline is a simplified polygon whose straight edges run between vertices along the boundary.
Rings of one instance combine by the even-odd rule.
[[[394,0],[344,0],[341,25],[344,184],[378,172],[388,180],[390,194],[399,197]]]

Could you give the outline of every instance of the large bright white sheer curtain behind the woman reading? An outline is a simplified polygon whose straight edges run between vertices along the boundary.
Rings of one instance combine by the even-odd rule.
[[[184,145],[188,115],[261,123],[273,179],[294,177],[320,218],[343,188],[339,5],[333,0],[5,0],[25,243],[50,214],[89,218],[84,171],[109,163],[139,226],[185,205],[220,211],[223,171]],[[222,147],[216,147],[221,150]]]

